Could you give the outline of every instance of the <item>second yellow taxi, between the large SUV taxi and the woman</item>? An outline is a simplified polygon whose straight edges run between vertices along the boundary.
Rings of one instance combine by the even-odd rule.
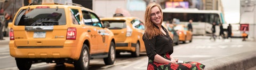
[[[140,52],[146,52],[142,40],[145,32],[144,23],[137,17],[124,17],[115,14],[114,17],[100,18],[103,23],[109,23],[110,31],[114,33],[116,41],[116,54],[131,52],[133,57],[140,56]]]

